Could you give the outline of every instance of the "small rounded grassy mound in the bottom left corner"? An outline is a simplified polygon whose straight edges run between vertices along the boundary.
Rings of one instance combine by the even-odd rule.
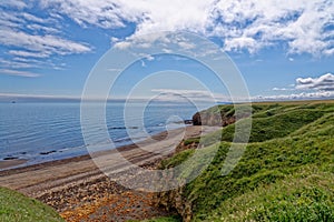
[[[0,221],[60,222],[63,220],[50,206],[16,191],[0,188]]]

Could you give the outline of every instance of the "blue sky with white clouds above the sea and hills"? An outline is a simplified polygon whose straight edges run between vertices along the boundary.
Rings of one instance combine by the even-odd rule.
[[[334,98],[332,0],[0,0],[0,100],[80,98],[108,50],[161,31],[214,42],[252,100]],[[179,41],[178,48],[197,43]],[[154,72],[143,92],[135,90],[137,98],[205,99],[209,89],[228,100],[210,70],[168,54],[135,61],[112,85],[112,97],[128,97]]]

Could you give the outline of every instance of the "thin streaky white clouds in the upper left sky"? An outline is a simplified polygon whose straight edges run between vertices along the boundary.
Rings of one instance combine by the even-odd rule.
[[[91,51],[87,43],[60,37],[60,18],[41,18],[30,11],[32,4],[24,3],[17,10],[18,2],[9,0],[8,9],[0,8],[0,44],[9,48],[4,51],[7,60],[0,61],[1,68],[24,69],[43,67],[59,69],[51,60],[40,60],[55,54],[86,53]],[[37,4],[35,6],[37,7]],[[56,28],[51,28],[56,27]],[[20,60],[21,59],[21,60]],[[27,59],[26,61],[23,61]],[[30,61],[28,61],[28,59]]]

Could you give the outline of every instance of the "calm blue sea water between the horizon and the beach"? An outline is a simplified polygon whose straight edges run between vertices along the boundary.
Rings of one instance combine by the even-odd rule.
[[[165,131],[167,124],[184,127],[180,120],[191,119],[197,111],[190,103],[144,105],[131,103],[125,124],[124,103],[107,104],[106,122],[116,147],[132,142],[128,132],[138,141],[147,133]],[[81,134],[80,103],[0,103],[0,160],[19,158],[35,164],[88,153]],[[90,135],[97,143],[110,142],[99,138],[101,130],[101,125],[94,125]]]

